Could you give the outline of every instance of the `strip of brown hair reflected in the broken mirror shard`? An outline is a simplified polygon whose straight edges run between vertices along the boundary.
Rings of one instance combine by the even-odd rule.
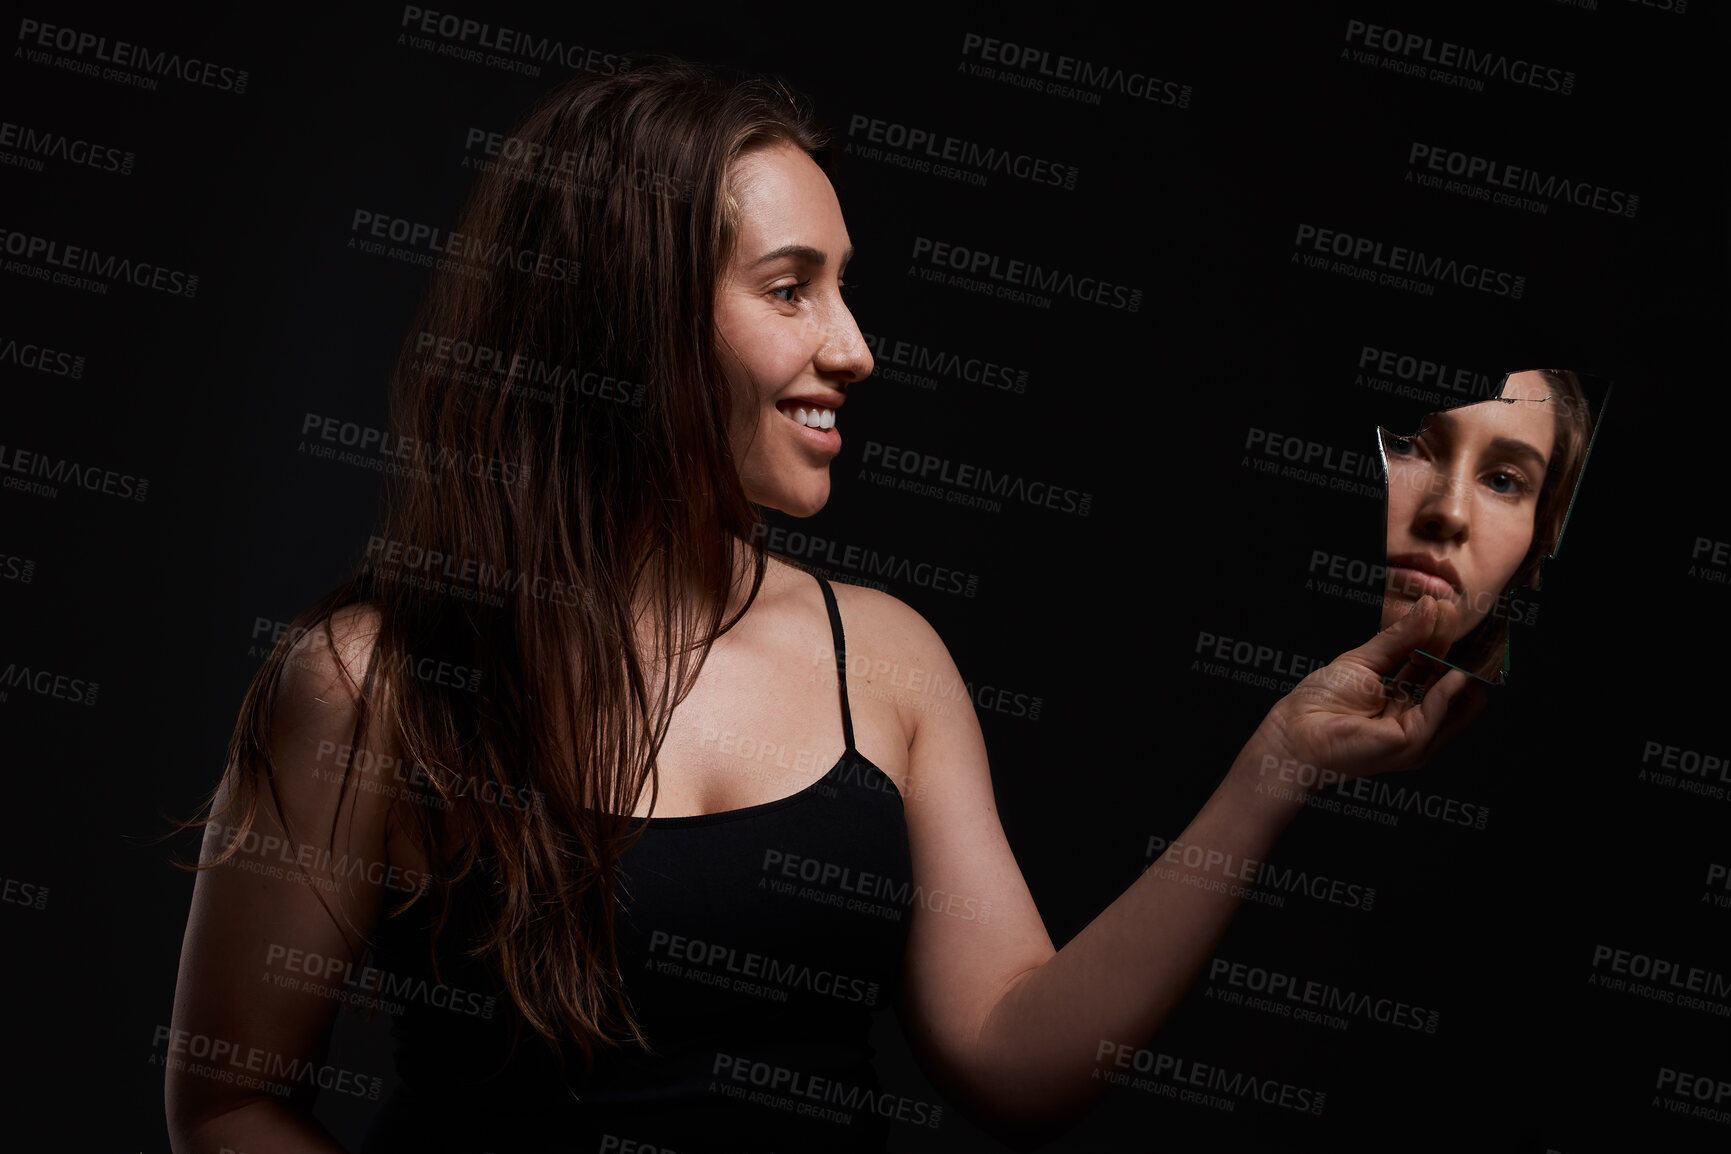
[[[1525,370],[1523,370],[1525,372]],[[1544,559],[1556,552],[1563,536],[1563,521],[1580,481],[1580,471],[1587,464],[1587,446],[1593,441],[1593,417],[1587,414],[1587,394],[1580,388],[1580,377],[1568,369],[1537,369],[1549,388],[1546,403],[1551,407],[1556,439],[1551,445],[1551,460],[1539,486],[1539,500],[1532,514],[1532,545],[1515,569],[1515,576],[1497,595],[1497,604],[1449,649],[1449,663],[1485,680],[1501,680],[1508,670],[1508,638],[1511,597],[1518,588],[1537,590],[1542,580]],[[1504,374],[1503,384],[1515,374]],[[1501,389],[1499,389],[1501,396]],[[1496,403],[1496,401],[1485,401]]]

